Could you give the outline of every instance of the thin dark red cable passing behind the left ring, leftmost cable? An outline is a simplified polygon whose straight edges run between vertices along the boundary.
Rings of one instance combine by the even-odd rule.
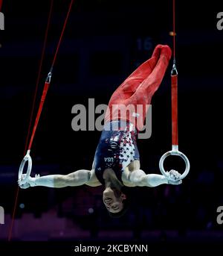
[[[0,7],[1,7],[1,3],[2,3],[2,0],[0,0]],[[37,79],[36,79],[36,89],[35,89],[35,93],[34,93],[34,96],[33,96],[33,105],[32,105],[32,110],[31,110],[31,113],[30,113],[30,122],[29,122],[29,126],[28,126],[28,135],[27,135],[26,141],[25,141],[25,152],[27,151],[28,139],[30,137],[30,128],[31,128],[31,124],[33,122],[33,112],[34,112],[35,103],[36,103],[36,95],[37,95],[37,91],[38,91],[38,87],[39,87],[39,79],[40,79],[40,75],[41,75],[41,71],[42,71],[42,62],[43,62],[43,58],[44,58],[44,55],[45,55],[45,47],[46,47],[47,38],[48,38],[48,31],[49,31],[49,26],[50,26],[50,22],[51,22],[51,14],[52,14],[52,10],[53,10],[53,5],[54,5],[54,0],[51,0],[51,7],[50,7],[49,16],[48,16],[48,24],[47,24],[47,28],[45,30],[45,39],[44,39],[44,43],[43,43],[43,47],[42,47],[41,59],[40,59],[40,62],[39,62],[39,72],[38,72]],[[15,215],[16,215],[16,207],[17,207],[18,198],[19,198],[19,187],[17,188],[17,191],[16,191],[16,199],[15,199],[15,204],[14,204],[14,207],[13,207],[13,216],[12,216],[12,220],[11,220],[11,224],[10,224],[10,231],[9,231],[9,235],[8,235],[8,241],[10,241],[11,237],[12,237],[13,223],[14,223],[14,219],[15,219]]]

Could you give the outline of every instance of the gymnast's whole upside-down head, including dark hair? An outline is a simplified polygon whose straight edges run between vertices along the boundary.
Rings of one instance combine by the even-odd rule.
[[[128,202],[128,196],[126,193],[123,193],[123,190],[106,187],[103,191],[103,203],[111,217],[123,216],[128,208]]]

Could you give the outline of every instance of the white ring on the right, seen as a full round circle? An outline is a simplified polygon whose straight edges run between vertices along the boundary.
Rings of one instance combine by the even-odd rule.
[[[179,156],[179,157],[181,157],[181,158],[184,159],[184,162],[185,162],[185,164],[186,164],[186,168],[185,168],[184,173],[181,174],[181,176],[178,178],[178,181],[179,181],[179,180],[182,180],[183,178],[185,178],[185,177],[187,176],[188,172],[190,171],[190,162],[189,162],[188,158],[186,157],[185,154],[183,154],[182,152],[180,152],[180,151],[178,151],[178,150],[177,150],[177,151],[171,150],[171,151],[169,151],[169,152],[163,154],[163,155],[161,156],[161,159],[160,159],[160,162],[159,162],[159,167],[160,167],[161,173],[162,173],[164,176],[166,176],[167,178],[169,178],[169,175],[168,175],[168,173],[167,173],[167,172],[165,171],[165,169],[164,169],[164,160],[165,160],[169,155],[176,155],[176,156]]]

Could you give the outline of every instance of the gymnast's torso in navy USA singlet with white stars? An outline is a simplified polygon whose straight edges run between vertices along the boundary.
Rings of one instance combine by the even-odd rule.
[[[131,186],[128,184],[126,171],[128,166],[139,162],[136,138],[137,131],[130,122],[119,120],[104,125],[94,155],[94,175],[100,184],[105,184],[103,172],[112,169],[119,181]]]

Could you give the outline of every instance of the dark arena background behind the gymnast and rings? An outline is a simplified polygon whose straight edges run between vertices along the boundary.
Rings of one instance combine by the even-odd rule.
[[[68,4],[54,3],[37,102]],[[7,239],[13,212],[49,7],[49,0],[3,1],[1,10],[5,30],[0,31],[0,205],[6,213],[1,240]],[[13,240],[220,243],[223,233],[216,209],[223,204],[223,31],[216,28],[216,15],[221,11],[218,1],[176,3],[179,149],[191,163],[183,184],[132,188],[132,205],[120,219],[108,216],[100,187],[19,190]],[[33,142],[32,175],[91,169],[100,131],[73,131],[71,108],[88,106],[88,98],[107,104],[158,43],[172,47],[169,31],[169,0],[74,1]],[[171,66],[172,60],[152,99],[152,137],[138,142],[141,168],[147,173],[159,173],[158,161],[171,149]],[[167,165],[184,170],[175,158]]]

